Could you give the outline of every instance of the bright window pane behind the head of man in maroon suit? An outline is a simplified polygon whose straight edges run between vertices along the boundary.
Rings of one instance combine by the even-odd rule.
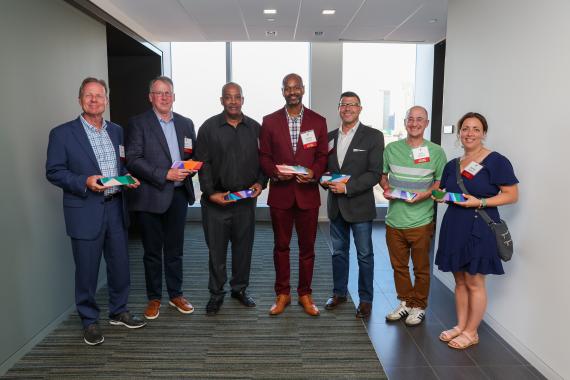
[[[243,89],[243,112],[261,123],[285,105],[281,81],[289,73],[303,78],[303,102],[309,107],[309,43],[232,42],[232,80]]]

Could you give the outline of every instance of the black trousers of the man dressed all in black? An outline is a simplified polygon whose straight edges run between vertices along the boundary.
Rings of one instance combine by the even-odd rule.
[[[227,206],[201,200],[202,226],[210,253],[208,289],[214,297],[223,297],[227,281],[228,243],[232,243],[232,292],[249,285],[251,251],[255,235],[256,199],[243,199]]]

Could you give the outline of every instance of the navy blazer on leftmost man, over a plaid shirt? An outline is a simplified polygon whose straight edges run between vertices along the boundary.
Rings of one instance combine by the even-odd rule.
[[[113,142],[119,175],[127,170],[119,157],[123,129],[107,121],[107,133]],[[63,215],[67,234],[74,239],[97,238],[103,226],[104,195],[87,189],[87,177],[102,175],[95,153],[79,118],[55,127],[49,134],[46,178],[63,189]],[[126,200],[123,224],[128,227]]]

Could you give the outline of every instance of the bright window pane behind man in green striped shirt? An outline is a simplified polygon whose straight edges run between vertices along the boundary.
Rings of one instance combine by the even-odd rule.
[[[406,137],[405,113],[414,104],[416,45],[344,43],[342,89],[362,102],[360,120],[384,133],[386,144]],[[377,204],[387,203],[380,186]]]

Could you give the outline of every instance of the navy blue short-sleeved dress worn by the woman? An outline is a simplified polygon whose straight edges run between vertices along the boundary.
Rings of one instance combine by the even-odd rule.
[[[462,193],[457,185],[456,159],[449,161],[441,177],[442,189]],[[497,152],[491,152],[481,162],[483,169],[472,179],[463,177],[469,193],[477,198],[490,198],[499,193],[499,186],[517,184],[510,161]],[[497,207],[485,208],[491,219],[499,220]],[[497,252],[495,235],[474,208],[449,203],[440,227],[435,263],[443,272],[469,274],[504,274]]]

